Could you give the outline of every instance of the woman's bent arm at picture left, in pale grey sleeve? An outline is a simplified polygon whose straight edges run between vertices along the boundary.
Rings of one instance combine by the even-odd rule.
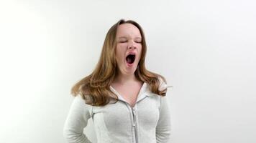
[[[83,134],[83,128],[91,118],[91,108],[91,105],[86,104],[80,95],[73,99],[63,128],[63,136],[68,143],[91,143]]]

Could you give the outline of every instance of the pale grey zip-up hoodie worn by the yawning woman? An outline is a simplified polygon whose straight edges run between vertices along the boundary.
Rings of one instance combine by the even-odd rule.
[[[161,82],[160,89],[167,87]],[[86,104],[76,96],[65,121],[63,134],[69,143],[91,143],[83,134],[88,119],[92,117],[98,143],[169,143],[170,104],[168,95],[160,97],[150,92],[144,83],[134,107],[110,87],[119,98],[116,104],[104,107]]]

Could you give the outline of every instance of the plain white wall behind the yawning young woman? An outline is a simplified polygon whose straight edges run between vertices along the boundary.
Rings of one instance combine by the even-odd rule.
[[[147,69],[173,85],[174,143],[256,142],[256,2],[1,1],[0,142],[65,142],[70,88],[119,19],[145,30]],[[95,141],[91,120],[86,134]]]

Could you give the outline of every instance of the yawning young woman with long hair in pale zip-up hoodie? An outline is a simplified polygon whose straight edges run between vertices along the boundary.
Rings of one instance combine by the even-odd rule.
[[[63,133],[68,142],[91,142],[83,129],[93,119],[98,143],[170,142],[165,78],[145,68],[145,35],[137,22],[111,26],[96,69],[74,85]]]

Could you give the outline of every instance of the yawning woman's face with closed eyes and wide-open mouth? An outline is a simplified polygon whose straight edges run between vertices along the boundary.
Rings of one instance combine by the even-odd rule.
[[[142,36],[137,26],[121,24],[116,31],[116,63],[119,72],[124,75],[134,74],[140,61]],[[119,73],[120,74],[120,73]]]

